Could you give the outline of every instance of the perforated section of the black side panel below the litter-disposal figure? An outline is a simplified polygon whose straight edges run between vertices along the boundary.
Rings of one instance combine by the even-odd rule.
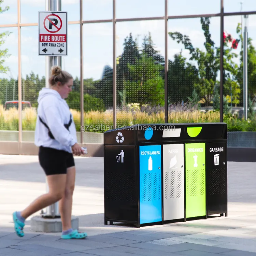
[[[135,202],[135,176],[127,173],[106,173],[104,196],[109,200]]]

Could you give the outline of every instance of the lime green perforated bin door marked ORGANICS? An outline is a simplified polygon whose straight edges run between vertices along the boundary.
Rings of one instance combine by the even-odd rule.
[[[185,144],[186,218],[206,214],[205,143]]]

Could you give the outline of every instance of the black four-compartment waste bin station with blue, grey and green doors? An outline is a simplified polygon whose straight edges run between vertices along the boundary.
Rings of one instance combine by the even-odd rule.
[[[136,227],[227,216],[227,124],[104,132],[104,223]]]

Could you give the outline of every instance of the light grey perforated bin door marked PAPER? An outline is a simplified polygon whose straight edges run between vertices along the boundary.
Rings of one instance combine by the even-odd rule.
[[[184,144],[163,145],[163,219],[184,218]]]

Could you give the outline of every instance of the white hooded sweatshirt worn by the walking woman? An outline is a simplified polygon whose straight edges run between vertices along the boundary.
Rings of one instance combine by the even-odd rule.
[[[70,120],[70,109],[67,102],[53,89],[43,88],[38,97],[38,116],[35,126],[35,145],[65,150],[72,153],[71,146],[77,142],[76,129],[72,116],[72,123],[67,130],[64,124]],[[49,130],[40,122],[39,116],[49,127],[54,139],[48,135]]]

